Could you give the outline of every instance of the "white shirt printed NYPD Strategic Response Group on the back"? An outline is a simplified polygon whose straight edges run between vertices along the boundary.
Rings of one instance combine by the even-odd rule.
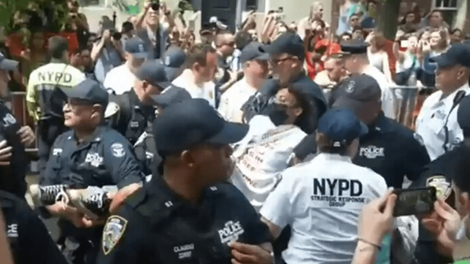
[[[320,153],[282,173],[260,214],[281,228],[291,226],[282,253],[287,264],[351,263],[362,206],[386,191],[379,174],[347,156]]]

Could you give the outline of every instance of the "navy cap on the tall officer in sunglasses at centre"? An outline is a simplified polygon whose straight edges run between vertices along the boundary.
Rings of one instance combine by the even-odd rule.
[[[291,32],[282,33],[265,49],[270,55],[287,53],[298,57],[300,60],[305,58],[302,39],[299,35]]]

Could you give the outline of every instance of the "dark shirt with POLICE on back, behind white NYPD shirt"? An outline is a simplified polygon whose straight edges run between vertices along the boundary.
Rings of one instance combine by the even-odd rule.
[[[401,188],[404,176],[416,180],[430,159],[418,135],[381,113],[369,133],[359,138],[352,162],[384,177],[389,187]]]

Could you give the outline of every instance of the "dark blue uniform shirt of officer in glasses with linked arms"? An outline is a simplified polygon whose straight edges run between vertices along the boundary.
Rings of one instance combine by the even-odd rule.
[[[40,184],[122,188],[143,181],[140,164],[124,136],[107,126],[99,126],[91,138],[90,142],[77,144],[73,130],[60,135],[51,148]]]

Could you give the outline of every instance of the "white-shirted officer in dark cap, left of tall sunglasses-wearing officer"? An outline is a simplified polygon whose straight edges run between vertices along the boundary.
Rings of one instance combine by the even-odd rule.
[[[259,42],[246,45],[240,55],[244,77],[222,94],[219,113],[228,121],[243,123],[241,107],[268,76],[269,54]]]

